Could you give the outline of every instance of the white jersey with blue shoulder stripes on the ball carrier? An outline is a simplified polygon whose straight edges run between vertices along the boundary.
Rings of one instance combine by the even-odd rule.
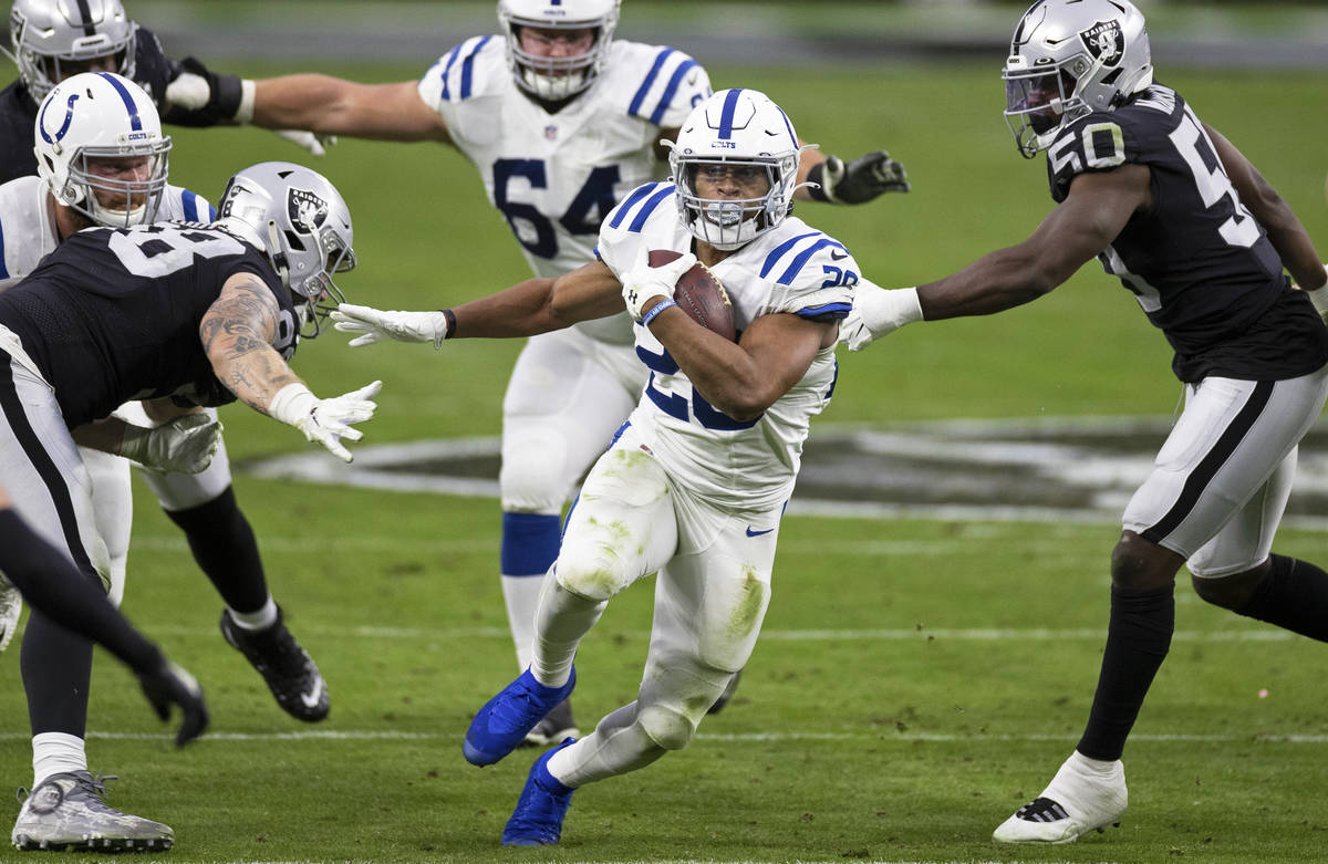
[[[604,222],[600,259],[622,279],[641,248],[687,252],[692,235],[679,219],[676,187],[648,183]],[[733,303],[738,333],[762,315],[788,312],[843,319],[853,307],[858,264],[835,239],[786,218],[710,268]],[[736,421],[692,388],[649,328],[636,325],[636,354],[651,378],[631,423],[688,491],[724,508],[778,507],[789,499],[811,418],[834,392],[834,345],[760,418]]]

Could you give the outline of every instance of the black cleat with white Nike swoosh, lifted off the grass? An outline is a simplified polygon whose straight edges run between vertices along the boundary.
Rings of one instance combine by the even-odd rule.
[[[296,719],[316,723],[328,715],[328,687],[308,652],[300,648],[280,609],[276,624],[263,630],[247,630],[235,622],[231,611],[222,612],[222,636],[231,648],[263,676],[276,703]]]

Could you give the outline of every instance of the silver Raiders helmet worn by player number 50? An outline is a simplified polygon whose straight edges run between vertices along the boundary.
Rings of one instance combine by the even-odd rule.
[[[1032,159],[1066,123],[1153,84],[1143,13],[1129,0],[1038,0],[1015,29],[1001,77],[1005,122]]]

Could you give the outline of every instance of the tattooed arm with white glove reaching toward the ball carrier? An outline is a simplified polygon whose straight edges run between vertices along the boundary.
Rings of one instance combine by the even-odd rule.
[[[216,303],[207,309],[198,333],[203,350],[226,389],[256,411],[295,426],[345,462],[351,451],[341,439],[359,441],[353,423],[373,417],[382,382],[353,393],[320,399],[309,392],[272,348],[280,307],[258,276],[235,273],[222,285]]]

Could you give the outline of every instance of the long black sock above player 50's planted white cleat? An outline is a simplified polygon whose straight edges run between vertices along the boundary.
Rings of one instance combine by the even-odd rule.
[[[1153,591],[1112,588],[1112,620],[1093,709],[1077,750],[1114,762],[1125,750],[1153,677],[1175,632],[1175,585]]]

